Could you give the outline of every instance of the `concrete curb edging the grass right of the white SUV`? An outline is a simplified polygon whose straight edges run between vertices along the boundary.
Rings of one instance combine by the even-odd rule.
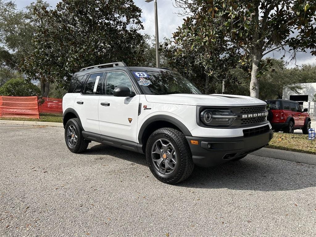
[[[261,148],[260,150],[250,153],[250,155],[258,155],[274,159],[300,162],[308,165],[316,165],[316,155],[295,151]]]

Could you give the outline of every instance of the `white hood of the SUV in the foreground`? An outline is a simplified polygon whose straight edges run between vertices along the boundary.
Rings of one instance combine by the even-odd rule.
[[[170,94],[145,95],[146,100],[152,103],[195,105],[195,106],[255,106],[266,103],[257,98],[243,95],[228,94]]]

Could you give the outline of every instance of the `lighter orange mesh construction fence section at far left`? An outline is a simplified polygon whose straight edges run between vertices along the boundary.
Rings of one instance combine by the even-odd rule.
[[[40,118],[37,96],[0,96],[0,117]]]

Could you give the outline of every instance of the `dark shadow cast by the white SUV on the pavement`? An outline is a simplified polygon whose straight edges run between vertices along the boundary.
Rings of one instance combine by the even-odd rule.
[[[95,145],[84,154],[111,155],[147,166],[145,155],[104,144]],[[316,166],[248,155],[240,161],[230,161],[216,167],[201,168],[195,166],[191,176],[176,185],[205,189],[298,190],[316,186]]]

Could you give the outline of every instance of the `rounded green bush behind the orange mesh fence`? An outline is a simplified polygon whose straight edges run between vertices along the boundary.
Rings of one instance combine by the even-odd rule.
[[[7,81],[0,88],[0,95],[3,96],[41,96],[40,88],[24,80],[16,78]]]

